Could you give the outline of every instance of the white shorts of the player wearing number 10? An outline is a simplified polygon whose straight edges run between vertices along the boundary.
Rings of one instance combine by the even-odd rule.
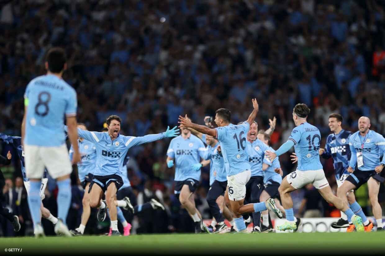
[[[329,185],[323,169],[309,171],[296,170],[286,177],[288,183],[297,190],[309,183],[311,183],[318,190]]]

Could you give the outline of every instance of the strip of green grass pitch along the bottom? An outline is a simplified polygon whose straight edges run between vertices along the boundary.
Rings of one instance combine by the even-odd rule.
[[[28,237],[0,238],[0,254],[372,254],[383,252],[384,241],[385,232]]]

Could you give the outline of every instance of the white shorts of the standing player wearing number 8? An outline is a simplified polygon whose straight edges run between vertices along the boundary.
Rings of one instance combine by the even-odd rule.
[[[57,179],[72,172],[65,144],[58,147],[24,145],[25,176],[28,179],[41,179],[44,168],[52,178]]]

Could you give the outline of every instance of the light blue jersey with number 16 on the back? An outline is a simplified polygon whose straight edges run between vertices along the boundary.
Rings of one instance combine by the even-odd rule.
[[[226,175],[232,176],[250,170],[246,151],[246,135],[250,124],[246,121],[241,125],[229,124],[215,128],[216,139],[221,142],[221,151],[226,168]]]

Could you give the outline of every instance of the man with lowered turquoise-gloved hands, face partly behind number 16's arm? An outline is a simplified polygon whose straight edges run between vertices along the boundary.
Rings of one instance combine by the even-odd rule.
[[[209,230],[203,223],[202,216],[195,207],[194,192],[201,177],[201,163],[199,157],[204,158],[206,148],[199,138],[191,134],[187,128],[181,128],[181,135],[173,138],[167,150],[167,166],[174,166],[175,160],[175,188],[182,206],[186,208],[195,223],[195,233]]]

